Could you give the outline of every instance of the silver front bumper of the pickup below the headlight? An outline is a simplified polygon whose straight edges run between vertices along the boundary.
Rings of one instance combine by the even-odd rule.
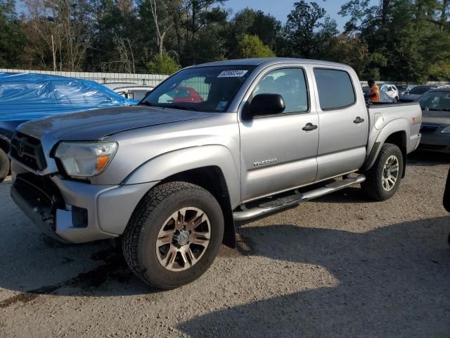
[[[42,187],[42,177],[20,175],[17,165],[13,161],[13,201],[42,232],[62,242],[120,236],[139,201],[158,184],[91,185],[53,176]]]

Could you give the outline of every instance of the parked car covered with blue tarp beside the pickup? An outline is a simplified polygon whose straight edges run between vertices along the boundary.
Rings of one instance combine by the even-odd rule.
[[[129,106],[124,99],[94,81],[70,77],[0,73],[0,182],[9,173],[11,137],[21,123],[50,115],[109,106]]]

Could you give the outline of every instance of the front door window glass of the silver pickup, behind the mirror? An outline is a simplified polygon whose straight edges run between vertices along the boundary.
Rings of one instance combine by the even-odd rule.
[[[308,91],[304,72],[301,68],[282,68],[272,70],[259,82],[252,93],[280,94],[285,101],[283,113],[302,113],[308,111]]]

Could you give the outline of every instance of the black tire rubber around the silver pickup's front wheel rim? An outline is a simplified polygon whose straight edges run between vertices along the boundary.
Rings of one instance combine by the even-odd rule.
[[[194,207],[210,220],[210,242],[203,256],[187,270],[167,270],[156,253],[156,240],[167,218],[181,208]],[[187,182],[167,182],[153,188],[134,210],[122,237],[125,260],[143,282],[174,289],[203,275],[217,256],[224,236],[224,216],[207,190]]]

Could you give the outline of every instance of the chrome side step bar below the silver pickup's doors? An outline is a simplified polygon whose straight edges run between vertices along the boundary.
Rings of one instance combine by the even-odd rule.
[[[358,175],[357,177],[347,177],[343,180],[335,180],[330,182],[323,187],[311,190],[310,192],[298,192],[297,190],[288,196],[283,196],[280,198],[271,199],[262,204],[258,204],[255,207],[247,208],[247,206],[240,206],[240,210],[233,212],[234,220],[249,220],[250,218],[260,217],[268,213],[274,213],[284,208],[289,208],[290,206],[295,206],[304,201],[309,201],[310,199],[316,199],[317,197],[330,194],[332,192],[337,192],[340,189],[350,187],[354,184],[362,183],[366,180],[366,176]]]

